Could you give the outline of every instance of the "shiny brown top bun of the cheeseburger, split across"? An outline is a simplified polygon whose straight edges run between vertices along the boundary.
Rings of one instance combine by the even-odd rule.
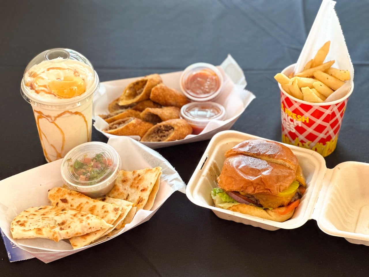
[[[218,186],[225,191],[277,195],[296,179],[299,161],[283,144],[245,140],[225,153]]]

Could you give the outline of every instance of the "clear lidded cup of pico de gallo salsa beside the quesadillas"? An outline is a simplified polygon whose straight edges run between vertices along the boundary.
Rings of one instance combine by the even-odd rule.
[[[117,151],[106,143],[92,141],[70,150],[62,160],[65,184],[90,197],[100,197],[113,188],[121,169]]]

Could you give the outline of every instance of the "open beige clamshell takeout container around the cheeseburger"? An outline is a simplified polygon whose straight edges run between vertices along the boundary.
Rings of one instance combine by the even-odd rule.
[[[313,150],[284,144],[299,158],[307,188],[291,219],[285,222],[244,215],[214,206],[210,192],[225,160],[224,153],[239,142],[258,138],[237,131],[216,134],[208,144],[186,188],[194,204],[211,209],[219,218],[266,230],[294,229],[315,219],[319,228],[348,242],[369,246],[369,164],[348,161],[328,169],[324,158]]]

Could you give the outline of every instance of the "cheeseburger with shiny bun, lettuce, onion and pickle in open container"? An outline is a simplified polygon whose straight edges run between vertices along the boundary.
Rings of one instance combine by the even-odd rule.
[[[278,222],[292,217],[306,182],[290,148],[251,139],[224,155],[218,188],[211,191],[216,207]]]

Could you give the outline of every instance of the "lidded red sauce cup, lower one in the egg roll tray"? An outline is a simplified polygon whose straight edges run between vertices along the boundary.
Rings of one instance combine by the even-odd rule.
[[[190,102],[181,108],[180,117],[186,120],[193,128],[193,134],[200,133],[210,120],[224,120],[226,116],[222,105],[215,102]],[[196,132],[196,130],[197,132]]]

